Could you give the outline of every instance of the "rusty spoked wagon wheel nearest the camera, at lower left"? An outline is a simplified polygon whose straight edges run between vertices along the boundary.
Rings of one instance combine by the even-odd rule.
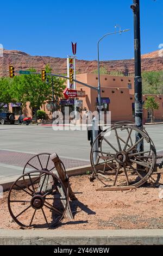
[[[67,189],[62,181],[53,173],[40,170],[20,176],[8,195],[10,215],[23,228],[54,227],[64,217],[67,203]]]

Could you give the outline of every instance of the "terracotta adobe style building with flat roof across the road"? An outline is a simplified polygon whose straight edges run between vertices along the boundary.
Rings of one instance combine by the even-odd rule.
[[[97,87],[98,77],[97,74],[80,74],[76,76],[78,81],[89,84],[90,86]],[[77,90],[85,91],[85,97],[79,97],[80,103],[83,101],[83,107],[90,111],[95,111],[98,105],[98,94],[96,90],[77,84]],[[143,95],[143,101],[149,95]],[[151,95],[150,95],[151,96]],[[155,120],[163,120],[163,95],[152,95],[156,101],[159,102],[159,109],[154,111]],[[102,110],[111,111],[111,122],[116,121],[134,121],[134,77],[128,76],[110,76],[101,75],[101,97],[102,97]],[[74,100],[68,101],[62,99],[60,104],[63,106],[74,104]],[[47,114],[51,114],[47,109],[47,103],[44,103],[42,108]],[[9,110],[16,114],[16,119],[21,113],[21,106],[10,104]],[[32,110],[29,108],[29,102],[23,109],[26,116],[32,117]],[[151,121],[151,113],[144,109],[144,122]],[[51,115],[50,115],[51,116]]]

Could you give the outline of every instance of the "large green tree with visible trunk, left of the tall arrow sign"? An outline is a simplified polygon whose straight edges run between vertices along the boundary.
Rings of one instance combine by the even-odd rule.
[[[29,69],[35,72],[35,69]],[[51,68],[46,66],[46,71],[51,72]],[[64,81],[60,78],[53,78],[54,93],[57,96],[62,95]],[[41,76],[36,74],[15,76],[12,86],[12,94],[17,102],[21,102],[26,106],[26,102],[30,102],[30,108],[35,112],[35,119],[37,122],[37,110],[40,109],[45,101],[52,100],[52,79],[49,81],[41,81]]]

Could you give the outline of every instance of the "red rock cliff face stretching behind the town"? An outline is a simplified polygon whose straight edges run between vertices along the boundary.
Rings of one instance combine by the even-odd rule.
[[[0,57],[0,76],[9,75],[9,65],[13,65],[15,70],[26,70],[33,67],[37,71],[41,71],[46,64],[52,67],[53,73],[55,74],[67,73],[66,58],[30,56],[21,51],[4,50],[3,57]],[[124,73],[134,73],[134,59],[103,61],[101,62],[101,66],[104,66],[108,72],[121,71]],[[93,72],[97,70],[97,61],[77,60],[76,70],[77,74]],[[163,70],[163,57],[159,57],[159,51],[142,56],[142,70]]]

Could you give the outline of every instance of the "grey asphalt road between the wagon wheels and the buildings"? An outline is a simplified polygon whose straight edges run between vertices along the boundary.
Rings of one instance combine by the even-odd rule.
[[[163,124],[147,125],[146,130],[153,139],[156,150],[163,151]],[[110,141],[114,144],[114,138],[110,137]],[[1,176],[22,173],[22,166],[15,163],[16,159],[12,164],[9,153],[30,155],[56,152],[64,159],[89,164],[90,142],[87,141],[86,131],[54,131],[51,126],[41,125],[0,125],[0,156],[4,152],[6,154],[0,159],[0,179]]]

